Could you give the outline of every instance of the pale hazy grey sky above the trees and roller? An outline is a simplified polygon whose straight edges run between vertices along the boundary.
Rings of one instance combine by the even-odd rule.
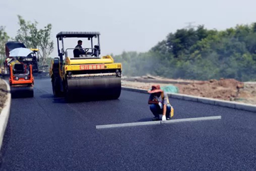
[[[120,54],[146,52],[187,22],[217,30],[256,22],[255,6],[255,0],[0,0],[0,25],[14,37],[17,15],[39,28],[52,23],[54,44],[60,31],[99,31],[102,54]]]

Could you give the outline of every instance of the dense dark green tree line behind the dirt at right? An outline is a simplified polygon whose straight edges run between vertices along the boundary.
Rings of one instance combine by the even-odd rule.
[[[256,23],[220,31],[183,28],[149,52],[123,52],[115,61],[122,62],[125,76],[256,81]]]

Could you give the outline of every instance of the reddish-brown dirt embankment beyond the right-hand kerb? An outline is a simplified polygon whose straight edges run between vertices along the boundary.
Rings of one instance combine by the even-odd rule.
[[[152,84],[177,86],[180,94],[256,105],[256,83],[243,83],[235,79],[221,78],[220,80],[191,81],[142,76],[124,78],[122,80],[122,86],[142,88],[145,90],[149,90]]]

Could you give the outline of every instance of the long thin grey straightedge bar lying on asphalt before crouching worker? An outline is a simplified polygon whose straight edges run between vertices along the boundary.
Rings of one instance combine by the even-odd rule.
[[[155,122],[132,122],[125,124],[105,124],[97,125],[96,129],[107,129],[107,128],[118,128],[118,127],[127,127],[127,126],[144,126],[144,125],[156,125],[156,124],[173,124],[178,122],[195,122],[195,121],[206,121],[206,120],[216,120],[221,119],[221,116],[216,117],[194,117],[186,119],[173,119],[169,121],[155,121]]]

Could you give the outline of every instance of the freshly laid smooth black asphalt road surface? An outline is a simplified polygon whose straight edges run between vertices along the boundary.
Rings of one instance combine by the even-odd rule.
[[[256,114],[170,99],[175,118],[222,119],[95,129],[150,121],[149,95],[66,103],[50,79],[35,97],[13,99],[1,148],[1,170],[256,170]]]

